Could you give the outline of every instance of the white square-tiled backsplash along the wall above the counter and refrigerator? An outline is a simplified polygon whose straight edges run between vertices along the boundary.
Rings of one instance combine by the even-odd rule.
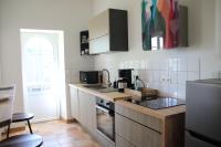
[[[95,59],[95,70],[107,69],[110,82],[118,77],[118,69],[135,69],[135,74],[146,85],[156,88],[162,96],[186,98],[186,81],[218,78],[221,71],[221,59],[208,56],[167,56],[167,55],[99,55]]]

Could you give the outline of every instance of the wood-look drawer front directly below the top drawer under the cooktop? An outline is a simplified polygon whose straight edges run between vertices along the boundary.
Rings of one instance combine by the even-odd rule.
[[[124,143],[119,143],[122,139],[116,141],[117,147],[161,147],[161,134],[156,130],[118,114],[115,114],[115,125],[116,135],[124,139]]]

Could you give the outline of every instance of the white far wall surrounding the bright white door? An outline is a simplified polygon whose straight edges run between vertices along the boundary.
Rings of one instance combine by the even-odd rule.
[[[78,82],[80,70],[94,67],[93,57],[80,56],[78,36],[81,30],[87,29],[91,6],[91,0],[0,1],[2,82],[17,84],[15,112],[23,111],[19,29],[63,30],[66,83]],[[71,118],[69,93],[63,102],[62,116]]]

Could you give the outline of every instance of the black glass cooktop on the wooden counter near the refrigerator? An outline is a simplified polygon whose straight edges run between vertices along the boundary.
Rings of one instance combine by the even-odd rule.
[[[173,98],[173,97],[160,97],[157,99],[139,102],[137,104],[140,106],[151,108],[151,109],[162,109],[162,108],[185,105],[186,101],[179,99],[179,98]]]

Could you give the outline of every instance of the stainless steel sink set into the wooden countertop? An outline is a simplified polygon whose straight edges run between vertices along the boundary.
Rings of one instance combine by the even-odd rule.
[[[117,92],[117,88],[113,87],[106,87],[104,85],[84,85],[86,88],[91,88],[101,93],[110,93],[110,92]]]

